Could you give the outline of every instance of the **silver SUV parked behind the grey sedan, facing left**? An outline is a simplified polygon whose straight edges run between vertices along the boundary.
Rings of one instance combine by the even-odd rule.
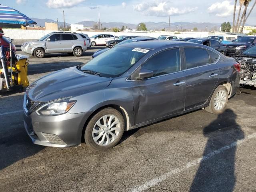
[[[37,58],[43,58],[48,53],[69,53],[79,57],[88,47],[90,38],[86,34],[52,32],[37,41],[23,43],[21,50]]]

